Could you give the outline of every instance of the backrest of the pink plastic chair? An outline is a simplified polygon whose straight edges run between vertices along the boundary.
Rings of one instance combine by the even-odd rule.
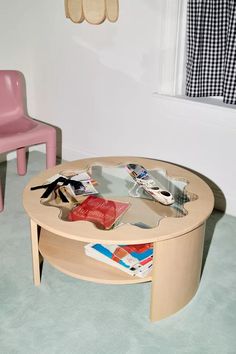
[[[8,121],[25,112],[24,76],[16,70],[0,70],[0,119]]]

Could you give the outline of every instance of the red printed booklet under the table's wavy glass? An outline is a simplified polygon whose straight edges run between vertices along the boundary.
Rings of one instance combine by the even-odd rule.
[[[68,214],[70,221],[86,220],[108,230],[129,208],[129,203],[89,196]]]

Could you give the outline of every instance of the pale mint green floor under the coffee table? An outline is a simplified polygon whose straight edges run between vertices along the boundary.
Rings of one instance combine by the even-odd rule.
[[[151,323],[149,283],[98,285],[45,263],[41,286],[34,287],[22,191],[44,164],[43,154],[31,152],[28,173],[19,177],[16,161],[7,163],[0,214],[1,354],[236,353],[236,218],[211,216],[196,296],[174,316]],[[1,171],[5,167],[0,164]]]

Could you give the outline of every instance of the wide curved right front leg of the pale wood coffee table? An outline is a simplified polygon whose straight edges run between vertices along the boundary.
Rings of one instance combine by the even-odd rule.
[[[184,307],[198,289],[205,224],[182,236],[154,243],[151,311],[152,321]]]

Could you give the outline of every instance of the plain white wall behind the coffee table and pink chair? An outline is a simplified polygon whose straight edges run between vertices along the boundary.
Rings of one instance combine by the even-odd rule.
[[[236,215],[235,111],[154,94],[175,51],[163,1],[120,0],[117,23],[92,26],[66,19],[63,0],[0,0],[0,67],[24,72],[29,113],[62,129],[63,158],[173,161],[213,180]]]

